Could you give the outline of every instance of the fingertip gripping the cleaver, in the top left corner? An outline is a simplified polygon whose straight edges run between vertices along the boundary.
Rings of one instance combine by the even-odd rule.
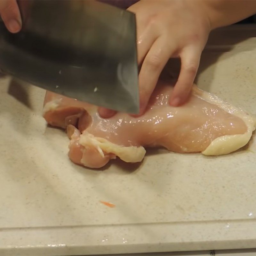
[[[0,1],[0,15],[6,28],[12,32],[17,33],[21,29],[20,10],[16,0],[2,0]]]

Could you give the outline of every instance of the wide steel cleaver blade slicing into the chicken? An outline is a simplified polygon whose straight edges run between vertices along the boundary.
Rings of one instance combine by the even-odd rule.
[[[0,22],[0,69],[77,100],[139,113],[136,20],[98,1],[18,1],[22,30]]]

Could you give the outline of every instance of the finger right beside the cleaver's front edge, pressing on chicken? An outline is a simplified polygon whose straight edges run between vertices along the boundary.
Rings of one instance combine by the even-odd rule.
[[[166,39],[159,37],[146,55],[139,75],[140,114],[147,107],[148,100],[155,89],[157,80],[174,49],[166,44]]]

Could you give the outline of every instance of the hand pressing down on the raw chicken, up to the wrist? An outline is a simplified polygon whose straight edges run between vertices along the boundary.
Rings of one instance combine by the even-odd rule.
[[[180,75],[170,104],[186,102],[210,33],[210,22],[201,1],[141,0],[128,8],[136,14],[140,115],[144,113],[157,80],[170,58],[181,59]],[[116,112],[99,108],[108,118]]]

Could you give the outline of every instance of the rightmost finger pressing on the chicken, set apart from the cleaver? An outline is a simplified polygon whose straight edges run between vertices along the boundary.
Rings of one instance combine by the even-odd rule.
[[[180,75],[170,97],[172,106],[177,107],[187,101],[199,66],[200,56],[200,49],[195,47],[185,48],[181,52]]]

